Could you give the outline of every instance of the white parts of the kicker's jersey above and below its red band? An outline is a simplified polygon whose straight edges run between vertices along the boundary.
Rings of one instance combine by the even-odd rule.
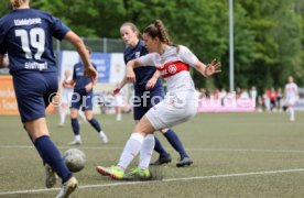
[[[159,69],[162,68],[166,63],[171,62],[180,61],[192,67],[195,63],[198,62],[198,58],[186,46],[180,45],[178,53],[176,53],[176,46],[170,46],[162,55],[158,53],[146,54],[145,56],[139,57],[140,65],[155,66]],[[166,80],[169,92],[183,90],[195,91],[194,82],[188,70],[182,70],[175,75],[172,75],[167,77]]]

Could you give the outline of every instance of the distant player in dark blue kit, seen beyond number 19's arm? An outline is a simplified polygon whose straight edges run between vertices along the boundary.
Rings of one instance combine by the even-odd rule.
[[[89,54],[91,50],[87,47]],[[95,68],[96,65],[91,64]],[[83,107],[85,111],[86,119],[91,124],[91,127],[98,132],[99,136],[102,139],[104,143],[108,143],[108,138],[101,130],[99,122],[93,117],[93,86],[94,81],[90,77],[84,76],[84,64],[82,62],[74,65],[73,79],[70,81],[64,81],[64,87],[73,86],[74,92],[70,100],[70,124],[75,135],[75,140],[69,142],[69,145],[82,144],[79,122],[78,122],[78,110]]]

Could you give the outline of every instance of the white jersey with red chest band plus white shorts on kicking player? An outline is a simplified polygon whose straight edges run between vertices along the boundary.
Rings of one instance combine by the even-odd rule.
[[[139,57],[142,66],[155,66],[167,80],[165,100],[151,108],[145,117],[155,130],[183,123],[197,112],[197,95],[189,75],[189,66],[198,58],[185,46],[170,46],[164,54],[148,54]]]

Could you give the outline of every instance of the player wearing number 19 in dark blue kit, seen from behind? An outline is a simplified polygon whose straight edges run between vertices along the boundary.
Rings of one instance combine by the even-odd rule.
[[[8,53],[21,121],[45,165],[46,187],[52,188],[58,175],[62,188],[57,197],[68,197],[78,182],[52,142],[45,120],[45,108],[58,87],[52,37],[69,41],[95,80],[97,72],[82,38],[61,20],[30,9],[30,0],[11,0],[11,4],[13,11],[0,19],[0,64]]]

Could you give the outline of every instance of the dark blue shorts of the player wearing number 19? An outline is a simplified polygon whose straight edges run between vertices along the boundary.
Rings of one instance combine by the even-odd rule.
[[[56,73],[13,75],[13,87],[22,122],[45,117],[45,109],[58,89]]]

